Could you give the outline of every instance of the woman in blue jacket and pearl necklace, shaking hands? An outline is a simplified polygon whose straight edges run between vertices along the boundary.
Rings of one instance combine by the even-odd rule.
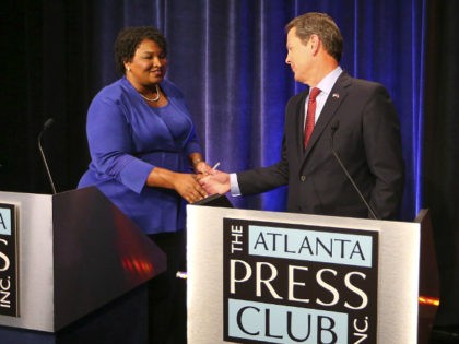
[[[205,197],[189,167],[195,173],[211,167],[183,94],[164,79],[166,54],[166,40],[153,27],[119,33],[115,59],[123,76],[90,105],[92,161],[79,188],[96,186],[166,252],[167,272],[151,286],[151,343],[169,343],[168,333],[181,336],[173,343],[186,343],[185,285],[175,273],[185,269],[185,201]],[[177,311],[179,319],[173,316]]]

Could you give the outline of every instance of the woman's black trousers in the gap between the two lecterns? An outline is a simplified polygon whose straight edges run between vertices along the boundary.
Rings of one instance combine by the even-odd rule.
[[[187,343],[186,232],[149,237],[166,253],[167,271],[149,283],[149,344]]]

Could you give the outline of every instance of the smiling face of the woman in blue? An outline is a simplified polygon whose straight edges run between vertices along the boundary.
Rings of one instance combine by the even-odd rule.
[[[131,61],[125,62],[126,76],[136,88],[151,87],[163,81],[167,58],[163,49],[151,39],[141,41]]]

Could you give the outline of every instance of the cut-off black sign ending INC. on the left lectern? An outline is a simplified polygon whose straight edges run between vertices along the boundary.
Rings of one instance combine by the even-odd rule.
[[[0,203],[0,315],[17,317],[17,230],[13,204]]]

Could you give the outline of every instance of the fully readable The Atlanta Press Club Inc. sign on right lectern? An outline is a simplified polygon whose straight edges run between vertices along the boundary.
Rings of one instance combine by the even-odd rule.
[[[378,235],[224,218],[224,341],[376,343]]]

